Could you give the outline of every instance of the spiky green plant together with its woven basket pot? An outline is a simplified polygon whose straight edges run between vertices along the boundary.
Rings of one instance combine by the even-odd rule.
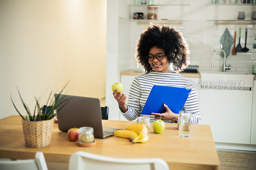
[[[67,86],[67,84],[64,86],[64,88]],[[54,95],[50,100],[52,95],[51,92],[48,97],[47,103],[44,106],[40,105],[39,98],[37,99],[35,97],[36,105],[33,113],[30,112],[28,105],[23,101],[20,95],[20,91],[17,88],[21,103],[24,106],[28,116],[21,115],[20,111],[16,108],[11,96],[12,104],[22,118],[23,134],[26,146],[40,148],[50,145],[55,109],[58,108],[61,103],[65,102],[65,105],[70,100],[70,98],[61,98],[64,88],[60,91],[55,100]],[[49,106],[47,106],[48,103]],[[61,110],[62,108],[63,106],[58,110]]]

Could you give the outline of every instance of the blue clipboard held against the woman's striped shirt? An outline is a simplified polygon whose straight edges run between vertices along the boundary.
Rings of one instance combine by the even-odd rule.
[[[141,112],[142,115],[164,113],[164,103],[173,113],[179,114],[187,101],[191,89],[154,85]]]

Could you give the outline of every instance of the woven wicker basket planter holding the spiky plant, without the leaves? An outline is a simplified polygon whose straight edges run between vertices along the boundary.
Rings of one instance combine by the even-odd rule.
[[[22,126],[26,146],[40,148],[50,145],[53,118],[35,122],[22,119]]]

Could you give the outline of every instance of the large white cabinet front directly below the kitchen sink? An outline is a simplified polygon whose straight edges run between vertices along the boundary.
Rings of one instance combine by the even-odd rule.
[[[252,90],[200,90],[200,124],[211,126],[214,142],[250,144]]]

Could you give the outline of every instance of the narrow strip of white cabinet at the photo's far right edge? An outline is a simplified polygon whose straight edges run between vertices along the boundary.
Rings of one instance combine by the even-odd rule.
[[[256,145],[256,80],[253,84],[251,144]]]

